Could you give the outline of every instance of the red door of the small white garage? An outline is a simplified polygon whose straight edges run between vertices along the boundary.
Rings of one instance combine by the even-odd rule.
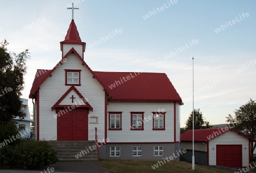
[[[242,145],[217,145],[216,165],[242,167]]]

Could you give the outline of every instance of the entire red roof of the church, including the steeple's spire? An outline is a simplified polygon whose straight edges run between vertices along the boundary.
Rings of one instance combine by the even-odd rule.
[[[61,50],[63,49],[64,43],[85,45],[84,42],[81,42],[74,20],[71,21],[65,40],[60,42]],[[63,58],[67,58],[71,53],[77,55],[82,65],[85,65],[90,73],[92,73],[93,77],[104,87],[105,91],[110,95],[110,99],[113,101],[182,102],[179,94],[177,94],[174,86],[164,73],[92,71],[74,48],[69,50]],[[61,60],[52,70],[46,70],[47,72],[35,77],[30,91],[30,98],[35,98],[36,91],[39,87],[62,63]]]

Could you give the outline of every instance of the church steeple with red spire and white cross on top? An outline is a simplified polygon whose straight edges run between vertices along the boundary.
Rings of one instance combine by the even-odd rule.
[[[72,7],[68,9],[72,9],[72,20],[68,28],[67,35],[65,36],[64,41],[60,41],[60,50],[62,51],[62,58],[71,48],[74,48],[77,53],[84,59],[85,45],[86,43],[81,41],[79,36],[79,32],[77,31],[75,21],[73,19],[73,10],[78,9],[74,8],[74,3],[72,3]]]

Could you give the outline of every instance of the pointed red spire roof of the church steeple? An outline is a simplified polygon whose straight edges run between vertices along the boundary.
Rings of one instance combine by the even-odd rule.
[[[61,41],[60,43],[79,43],[79,44],[85,44],[81,41],[81,38],[79,36],[79,32],[77,31],[76,24],[74,20],[72,19],[67,35],[65,36],[65,40]]]

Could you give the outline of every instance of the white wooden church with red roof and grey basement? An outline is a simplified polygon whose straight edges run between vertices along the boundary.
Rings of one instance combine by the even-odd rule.
[[[30,91],[36,139],[97,137],[100,158],[159,160],[179,150],[183,103],[167,75],[93,71],[85,45],[72,19],[60,42],[61,60],[37,70]]]

